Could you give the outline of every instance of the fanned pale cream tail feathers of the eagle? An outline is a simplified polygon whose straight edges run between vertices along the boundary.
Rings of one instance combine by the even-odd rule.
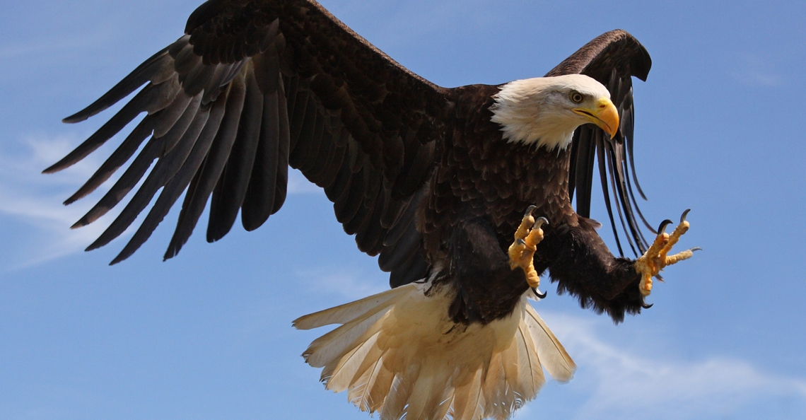
[[[302,356],[322,382],[347,390],[360,410],[382,420],[505,419],[538,394],[543,368],[570,380],[575,364],[521,297],[509,318],[486,326],[447,318],[453,293],[410,284],[305,315],[302,330],[343,324]]]

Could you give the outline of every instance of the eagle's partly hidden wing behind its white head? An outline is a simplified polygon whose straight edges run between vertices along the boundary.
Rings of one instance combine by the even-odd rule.
[[[568,180],[568,193],[571,198],[576,192],[576,212],[584,217],[590,217],[591,187],[593,183],[594,161],[598,161],[599,176],[602,191],[605,194],[605,204],[616,237],[618,251],[621,249],[618,230],[613,215],[613,206],[610,199],[610,190],[613,190],[616,210],[624,227],[625,235],[633,252],[646,251],[646,239],[642,234],[640,223],[650,231],[653,228],[646,222],[638,202],[635,191],[642,198],[646,196],[638,184],[635,176],[633,161],[633,81],[638,77],[646,81],[650,72],[652,60],[646,48],[626,31],[609,31],[596,37],[577,52],[563,60],[546,76],[559,76],[563,74],[581,73],[593,77],[609,89],[613,104],[618,109],[621,127],[612,140],[605,131],[592,124],[586,124],[576,130],[571,143],[571,171]],[[632,173],[632,181],[630,181]],[[609,185],[608,185],[609,184]],[[638,222],[638,218],[641,222]]]

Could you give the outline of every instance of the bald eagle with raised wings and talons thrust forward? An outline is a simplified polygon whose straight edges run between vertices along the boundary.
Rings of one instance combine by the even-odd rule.
[[[688,230],[685,214],[671,235],[663,222],[651,245],[638,221],[631,78],[646,80],[650,64],[638,40],[610,31],[546,77],[447,89],[313,0],[210,0],[179,40],[64,119],[88,119],[145,85],[44,172],[75,164],[147,114],[65,202],[134,157],[73,226],[106,214],[145,177],[91,250],[121,235],[161,189],[115,264],[182,193],[165,259],[207,202],[209,242],[239,212],[247,231],[260,227],[285,202],[289,166],[299,169],[325,189],[359,250],[391,273],[387,292],[294,322],[341,324],[303,354],[323,368],[326,388],[347,390],[384,419],[508,418],[536,396],[543,369],[557,380],[575,369],[527,302],[545,297],[540,275],[548,270],[560,293],[621,322],[647,307],[660,269],[692,256],[668,255]],[[588,218],[595,161],[619,252],[609,186],[629,246],[642,253],[635,260],[613,256]]]

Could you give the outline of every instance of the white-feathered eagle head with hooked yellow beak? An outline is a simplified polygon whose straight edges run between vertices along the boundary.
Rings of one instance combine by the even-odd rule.
[[[492,122],[510,143],[567,148],[582,124],[596,124],[611,139],[619,127],[608,89],[582,74],[511,81],[493,98]]]

